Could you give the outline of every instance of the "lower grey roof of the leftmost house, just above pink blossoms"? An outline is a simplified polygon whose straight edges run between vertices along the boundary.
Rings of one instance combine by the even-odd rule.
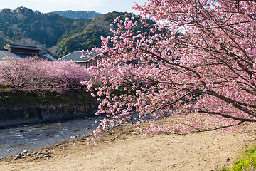
[[[14,52],[10,52],[6,49],[0,49],[0,61],[5,61],[6,57],[12,57],[12,58],[26,58],[26,57],[31,57],[32,55],[30,54],[26,54],[26,53],[14,53]],[[50,56],[49,54],[46,53],[40,53],[38,54],[39,58],[42,59],[47,59],[49,61],[56,61],[55,58],[53,58],[53,56]]]

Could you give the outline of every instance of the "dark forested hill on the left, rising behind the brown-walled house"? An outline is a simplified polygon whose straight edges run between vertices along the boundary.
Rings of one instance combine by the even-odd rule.
[[[70,31],[82,31],[91,19],[69,19],[58,14],[43,14],[25,7],[0,11],[0,48],[5,43],[34,43],[56,46]],[[22,39],[22,41],[21,41]],[[30,44],[31,44],[30,43]]]

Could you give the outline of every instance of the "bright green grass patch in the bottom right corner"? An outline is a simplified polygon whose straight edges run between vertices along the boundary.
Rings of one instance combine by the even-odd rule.
[[[233,164],[231,169],[222,169],[220,171],[252,171],[256,170],[256,146],[245,151],[245,157]]]

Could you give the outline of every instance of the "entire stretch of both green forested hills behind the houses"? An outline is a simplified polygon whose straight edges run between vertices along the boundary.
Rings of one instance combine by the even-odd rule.
[[[56,58],[73,51],[101,46],[101,36],[111,36],[110,24],[121,12],[102,14],[95,19],[69,19],[58,14],[43,14],[25,7],[0,11],[0,48],[6,43],[37,46]],[[137,18],[138,19],[138,18]]]

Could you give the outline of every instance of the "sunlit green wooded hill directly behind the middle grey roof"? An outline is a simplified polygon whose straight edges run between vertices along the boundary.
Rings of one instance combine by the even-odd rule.
[[[62,41],[60,41],[57,45],[56,53],[58,56],[65,56],[72,51],[82,51],[91,49],[94,46],[101,46],[101,36],[107,37],[112,36],[112,31],[110,31],[110,24],[114,22],[118,16],[124,20],[127,16],[132,16],[131,13],[124,12],[110,12],[107,14],[102,14],[97,18],[93,19],[90,24],[84,26],[83,31],[80,33],[67,34],[63,37]],[[139,16],[134,16],[134,18],[139,23]],[[147,22],[152,23],[152,21],[147,20]],[[134,28],[134,32],[138,31],[140,26]]]

